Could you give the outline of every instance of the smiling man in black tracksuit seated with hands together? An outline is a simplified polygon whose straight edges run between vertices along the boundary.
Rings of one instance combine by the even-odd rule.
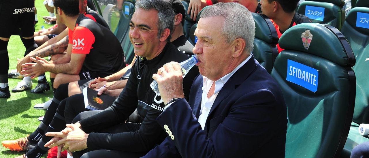
[[[85,152],[82,157],[139,157],[166,137],[155,121],[165,105],[149,85],[153,81],[152,75],[165,63],[182,62],[189,57],[169,42],[174,21],[165,19],[174,19],[174,12],[167,2],[137,1],[130,21],[130,40],[139,58],[123,92],[106,110],[81,113],[82,120],[67,125],[64,133],[46,133],[46,136],[55,137],[46,145],[62,145],[74,152],[73,157],[80,157]],[[189,94],[197,74],[195,66],[184,78],[185,94]],[[144,118],[142,124],[123,123],[136,108]]]

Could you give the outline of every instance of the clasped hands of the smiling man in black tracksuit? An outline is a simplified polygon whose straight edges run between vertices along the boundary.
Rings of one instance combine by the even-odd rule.
[[[81,128],[79,123],[66,124],[66,128],[60,132],[48,132],[45,135],[48,137],[54,137],[45,144],[45,147],[58,146],[58,158],[60,153],[67,150],[69,155],[72,156],[72,152],[81,151],[87,148],[87,137]]]

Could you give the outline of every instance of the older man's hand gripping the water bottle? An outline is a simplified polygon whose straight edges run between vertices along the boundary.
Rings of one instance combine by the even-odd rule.
[[[184,97],[182,68],[177,62],[169,62],[158,69],[158,73],[152,75],[158,82],[160,96],[167,104],[173,98]]]

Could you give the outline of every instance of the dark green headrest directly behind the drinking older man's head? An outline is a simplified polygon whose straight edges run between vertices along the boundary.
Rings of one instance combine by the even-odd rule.
[[[268,42],[269,44],[277,44],[278,35],[272,21],[270,21],[266,15],[261,13],[252,13],[252,16],[254,17],[255,21],[255,38],[259,38],[262,41]],[[268,25],[265,25],[265,22],[269,22]],[[272,32],[275,33],[273,34]]]

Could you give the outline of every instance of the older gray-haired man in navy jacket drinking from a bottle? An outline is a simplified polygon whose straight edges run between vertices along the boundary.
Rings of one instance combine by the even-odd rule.
[[[255,24],[237,3],[218,3],[201,14],[193,49],[201,75],[183,95],[182,72],[165,64],[158,82],[168,133],[145,157],[284,157],[287,112],[275,80],[251,54]]]

